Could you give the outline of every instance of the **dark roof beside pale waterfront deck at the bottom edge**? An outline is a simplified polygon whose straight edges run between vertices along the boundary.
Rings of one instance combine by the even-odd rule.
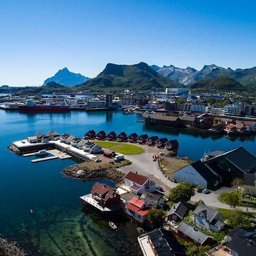
[[[155,229],[149,233],[147,233],[150,241],[154,247],[154,250],[158,256],[172,256],[172,249],[168,244],[166,238],[164,238],[164,234],[160,229]]]

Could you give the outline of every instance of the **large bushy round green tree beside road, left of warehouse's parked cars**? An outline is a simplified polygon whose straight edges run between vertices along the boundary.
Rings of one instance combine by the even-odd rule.
[[[187,202],[192,196],[195,196],[194,188],[195,186],[193,184],[187,182],[180,183],[177,187],[170,190],[170,200],[175,203],[178,203],[179,201]]]

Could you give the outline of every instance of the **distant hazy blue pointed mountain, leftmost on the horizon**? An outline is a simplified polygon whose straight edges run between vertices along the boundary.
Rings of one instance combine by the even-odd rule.
[[[77,84],[82,84],[82,82],[86,82],[89,79],[89,77],[82,76],[80,73],[76,74],[70,72],[67,68],[63,68],[60,69],[54,76],[46,79],[43,85],[46,85],[48,82],[56,82],[60,85],[73,86]]]

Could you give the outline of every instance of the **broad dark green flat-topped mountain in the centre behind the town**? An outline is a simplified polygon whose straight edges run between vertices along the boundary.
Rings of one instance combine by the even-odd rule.
[[[183,87],[150,68],[146,63],[117,65],[109,63],[95,78],[78,85],[80,89],[133,89],[154,90]]]

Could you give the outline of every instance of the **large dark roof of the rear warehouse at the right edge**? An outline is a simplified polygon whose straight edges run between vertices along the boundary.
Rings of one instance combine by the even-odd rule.
[[[216,158],[222,156],[243,172],[248,172],[256,166],[256,156],[242,146],[218,155]]]

